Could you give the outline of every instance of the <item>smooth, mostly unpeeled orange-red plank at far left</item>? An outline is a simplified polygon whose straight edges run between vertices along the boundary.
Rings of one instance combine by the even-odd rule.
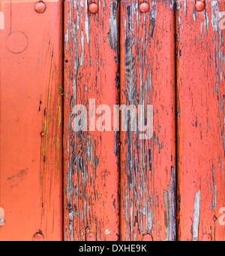
[[[62,1],[35,3],[0,3],[0,240],[62,240]]]

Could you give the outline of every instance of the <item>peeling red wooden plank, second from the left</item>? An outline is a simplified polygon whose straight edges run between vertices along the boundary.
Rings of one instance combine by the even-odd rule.
[[[97,14],[86,0],[65,2],[65,240],[85,240],[89,231],[118,239],[118,133],[104,129],[118,103],[118,2],[96,2]],[[102,104],[109,120],[95,115]],[[76,131],[78,105],[87,113]]]

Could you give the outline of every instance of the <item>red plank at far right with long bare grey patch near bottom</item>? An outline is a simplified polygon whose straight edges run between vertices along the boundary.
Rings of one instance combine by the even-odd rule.
[[[176,14],[180,240],[225,239],[225,2],[205,6],[197,13],[194,1],[181,0]]]

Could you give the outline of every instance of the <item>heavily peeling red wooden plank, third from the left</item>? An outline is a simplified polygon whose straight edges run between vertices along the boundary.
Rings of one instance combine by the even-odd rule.
[[[121,239],[175,240],[174,11],[147,3],[141,13],[138,1],[121,2],[121,105],[154,108],[151,139],[121,131]]]

